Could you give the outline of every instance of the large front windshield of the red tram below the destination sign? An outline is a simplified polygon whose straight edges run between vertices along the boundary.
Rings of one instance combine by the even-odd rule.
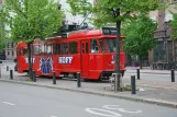
[[[108,52],[115,52],[115,39],[106,39],[106,46],[108,48]]]

